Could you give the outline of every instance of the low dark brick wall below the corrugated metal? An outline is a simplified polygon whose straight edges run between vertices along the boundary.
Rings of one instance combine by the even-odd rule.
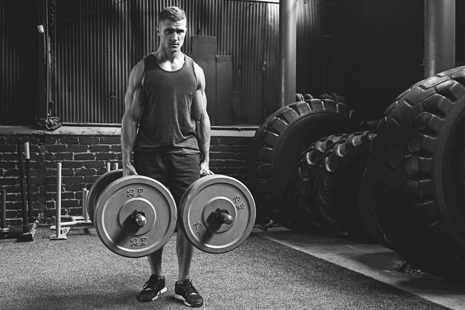
[[[62,130],[60,132],[0,133],[0,186],[7,191],[7,226],[22,225],[22,204],[16,139],[29,142],[33,215],[41,224],[54,223],[56,205],[56,167],[62,164],[61,212],[82,214],[82,188],[106,172],[106,163],[121,168],[120,131],[111,134]],[[253,132],[231,136],[228,131],[212,131],[210,170],[246,183],[246,161]],[[26,181],[25,181],[26,182]]]

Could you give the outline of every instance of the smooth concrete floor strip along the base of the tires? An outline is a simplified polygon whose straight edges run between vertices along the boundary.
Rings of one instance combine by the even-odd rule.
[[[271,228],[268,231],[254,228],[252,232],[434,303],[454,310],[465,310],[465,284],[434,276],[395,271],[394,268],[404,260],[396,252],[382,245],[359,244],[334,237],[300,234],[283,227]]]

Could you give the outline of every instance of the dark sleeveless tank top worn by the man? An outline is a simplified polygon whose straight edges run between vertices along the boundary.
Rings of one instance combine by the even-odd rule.
[[[176,71],[163,70],[153,54],[144,57],[146,99],[139,120],[135,151],[198,154],[192,98],[198,86],[194,61],[187,55]]]

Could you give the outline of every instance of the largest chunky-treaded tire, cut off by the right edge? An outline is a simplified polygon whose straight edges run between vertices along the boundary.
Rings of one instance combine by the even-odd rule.
[[[376,132],[367,173],[380,230],[409,263],[465,280],[465,67],[403,92]]]

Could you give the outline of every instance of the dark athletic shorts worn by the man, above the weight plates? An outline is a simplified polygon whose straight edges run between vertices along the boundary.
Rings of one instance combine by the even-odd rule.
[[[189,185],[200,178],[200,154],[134,152],[134,168],[137,174],[165,185],[178,207]]]

